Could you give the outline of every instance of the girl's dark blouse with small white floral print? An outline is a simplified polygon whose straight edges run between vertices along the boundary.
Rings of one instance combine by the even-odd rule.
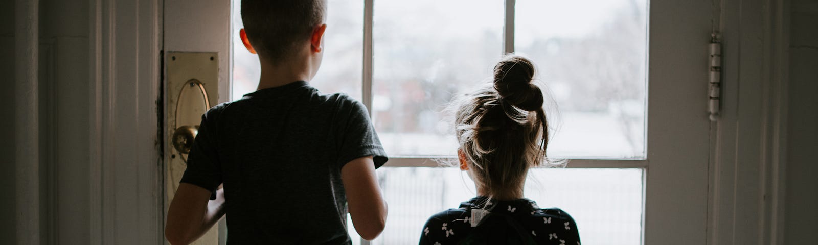
[[[420,234],[420,245],[457,244],[488,212],[511,216],[537,244],[580,245],[577,224],[561,209],[541,209],[528,198],[501,201],[483,196],[471,198],[461,203],[459,208],[438,212],[430,217]]]

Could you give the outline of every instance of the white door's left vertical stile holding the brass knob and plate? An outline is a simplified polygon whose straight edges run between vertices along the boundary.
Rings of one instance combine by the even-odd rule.
[[[185,169],[184,143],[192,144],[185,136],[209,107],[230,99],[230,7],[227,0],[164,1],[164,210]],[[194,244],[225,244],[226,227],[222,219]]]

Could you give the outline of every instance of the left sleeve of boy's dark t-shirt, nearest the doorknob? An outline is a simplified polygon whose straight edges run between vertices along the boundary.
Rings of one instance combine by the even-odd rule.
[[[198,185],[215,194],[218,185],[222,184],[222,173],[218,163],[215,132],[211,129],[212,120],[208,118],[209,113],[202,115],[199,133],[196,134],[191,152],[187,155],[187,169],[179,182]],[[211,195],[210,198],[213,199],[214,196]]]

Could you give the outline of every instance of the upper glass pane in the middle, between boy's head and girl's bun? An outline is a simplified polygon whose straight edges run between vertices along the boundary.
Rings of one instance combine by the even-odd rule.
[[[375,1],[372,113],[387,154],[452,155],[443,113],[502,54],[503,1]]]

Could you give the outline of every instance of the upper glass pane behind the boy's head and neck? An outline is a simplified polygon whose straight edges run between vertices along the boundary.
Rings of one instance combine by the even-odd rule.
[[[258,87],[261,69],[258,56],[245,49],[239,38],[241,1],[233,1],[233,85],[232,100]],[[328,15],[324,34],[324,58],[321,69],[310,84],[322,93],[344,92],[361,100],[363,64],[363,2],[327,1]]]

